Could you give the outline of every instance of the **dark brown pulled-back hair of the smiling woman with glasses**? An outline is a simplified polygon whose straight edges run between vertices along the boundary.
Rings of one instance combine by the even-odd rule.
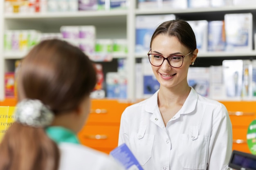
[[[193,32],[189,23],[185,20],[170,20],[160,24],[152,35],[150,49],[152,41],[159,34],[175,36],[184,46],[189,49],[189,51],[194,51],[196,49],[195,33]]]

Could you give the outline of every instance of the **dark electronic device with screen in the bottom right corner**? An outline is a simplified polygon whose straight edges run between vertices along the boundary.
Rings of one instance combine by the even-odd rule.
[[[236,170],[256,170],[256,155],[233,150],[229,167]]]

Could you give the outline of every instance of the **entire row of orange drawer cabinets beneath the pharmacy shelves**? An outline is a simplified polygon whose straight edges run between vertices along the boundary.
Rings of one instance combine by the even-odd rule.
[[[233,150],[250,152],[247,129],[256,118],[256,101],[220,101],[229,112],[233,129]],[[15,106],[16,99],[0,101],[0,106]],[[109,153],[118,143],[121,114],[131,102],[117,99],[92,99],[91,113],[78,137],[82,144]]]

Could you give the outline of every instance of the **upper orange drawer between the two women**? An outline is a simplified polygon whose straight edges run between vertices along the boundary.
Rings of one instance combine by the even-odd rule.
[[[94,99],[92,100],[91,113],[88,117],[87,124],[104,124],[115,123],[120,124],[121,114],[130,104],[126,101],[110,99]]]

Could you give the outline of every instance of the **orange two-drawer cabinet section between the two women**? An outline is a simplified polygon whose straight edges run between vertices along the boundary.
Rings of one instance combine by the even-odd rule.
[[[81,143],[109,154],[117,147],[121,114],[129,105],[127,101],[92,100],[91,113],[78,134]]]

